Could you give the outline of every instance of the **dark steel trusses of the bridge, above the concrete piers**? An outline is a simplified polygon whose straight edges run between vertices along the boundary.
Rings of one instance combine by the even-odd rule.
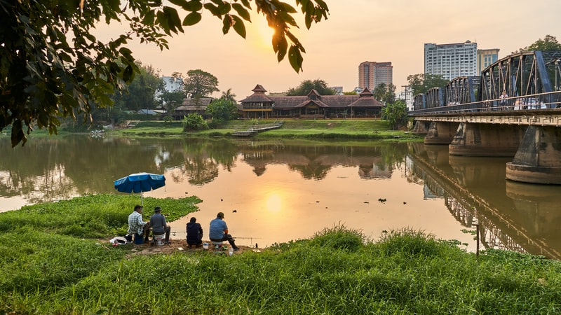
[[[414,113],[561,106],[561,51],[519,52],[499,59],[481,76],[461,76],[414,98]],[[508,97],[501,103],[501,93]],[[518,104],[516,104],[518,101]],[[528,104],[530,103],[530,104]],[[543,104],[543,106],[542,106]],[[449,106],[453,106],[450,108]],[[526,106],[526,108],[524,107]]]

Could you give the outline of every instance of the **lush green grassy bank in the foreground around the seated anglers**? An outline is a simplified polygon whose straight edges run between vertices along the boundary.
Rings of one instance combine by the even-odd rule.
[[[336,226],[232,257],[109,247],[137,196],[95,195],[0,214],[0,314],[560,314],[561,263],[479,257],[413,230]],[[176,219],[197,197],[145,198]]]

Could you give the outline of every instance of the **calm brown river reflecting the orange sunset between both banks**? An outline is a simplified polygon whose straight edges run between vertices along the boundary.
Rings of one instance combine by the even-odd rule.
[[[224,212],[236,244],[265,247],[345,225],[373,240],[423,230],[475,251],[478,227],[482,248],[561,258],[561,187],[506,181],[508,158],[377,141],[72,136],[34,138],[23,148],[4,137],[0,146],[0,211],[116,193],[116,179],[149,172],[164,174],[166,185],[144,196],[200,197],[191,216],[208,232]],[[185,236],[189,218],[170,223],[173,238]]]

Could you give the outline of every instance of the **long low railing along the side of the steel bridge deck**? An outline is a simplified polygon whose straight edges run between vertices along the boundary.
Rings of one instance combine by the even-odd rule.
[[[503,99],[488,99],[465,104],[447,104],[431,109],[416,109],[409,111],[409,116],[485,111],[547,111],[552,109],[561,111],[561,91],[506,97]]]

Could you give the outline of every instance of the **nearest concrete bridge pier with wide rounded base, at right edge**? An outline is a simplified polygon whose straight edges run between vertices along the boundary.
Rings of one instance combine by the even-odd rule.
[[[528,126],[506,179],[525,183],[561,184],[561,128]]]

